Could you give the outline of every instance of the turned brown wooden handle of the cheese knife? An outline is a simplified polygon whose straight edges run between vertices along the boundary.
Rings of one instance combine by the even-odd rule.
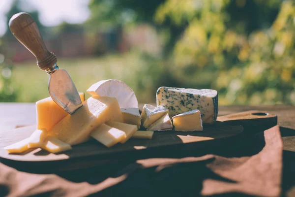
[[[9,20],[9,29],[13,35],[36,57],[42,70],[50,70],[57,63],[56,56],[49,52],[34,19],[20,12]]]

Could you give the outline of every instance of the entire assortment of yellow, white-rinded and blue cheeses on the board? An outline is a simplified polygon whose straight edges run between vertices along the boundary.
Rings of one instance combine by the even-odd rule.
[[[5,147],[9,153],[22,153],[30,148],[43,148],[51,153],[71,149],[90,137],[107,147],[125,143],[129,138],[151,139],[153,131],[203,131],[204,123],[214,123],[218,114],[218,93],[160,87],[157,107],[145,104],[139,113],[133,90],[119,80],[93,84],[82,106],[67,114],[51,97],[36,102],[37,130],[30,137]],[[172,121],[171,121],[172,117]],[[148,131],[137,131],[141,125]]]

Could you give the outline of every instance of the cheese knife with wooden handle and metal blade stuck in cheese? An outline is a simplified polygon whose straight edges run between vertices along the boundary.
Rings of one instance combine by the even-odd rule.
[[[59,69],[56,56],[49,52],[33,18],[20,12],[9,20],[13,35],[36,57],[37,66],[49,75],[48,90],[51,98],[66,112],[73,114],[82,101],[70,75]]]

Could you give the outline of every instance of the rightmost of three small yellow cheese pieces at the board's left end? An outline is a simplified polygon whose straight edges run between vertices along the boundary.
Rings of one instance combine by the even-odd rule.
[[[59,139],[52,136],[48,136],[45,139],[44,144],[42,145],[42,148],[47,150],[50,153],[59,153],[62,151],[72,149],[72,147],[69,144],[64,143],[63,141],[60,141]]]

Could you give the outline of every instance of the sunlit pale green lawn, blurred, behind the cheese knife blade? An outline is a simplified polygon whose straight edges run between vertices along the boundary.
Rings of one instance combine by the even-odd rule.
[[[86,92],[90,85],[104,79],[122,80],[136,88],[130,76],[136,74],[138,64],[139,59],[131,55],[58,60],[59,68],[67,70],[80,92]],[[48,81],[49,75],[35,62],[15,64],[12,71],[12,86],[18,90],[18,102],[35,102],[49,97]]]

